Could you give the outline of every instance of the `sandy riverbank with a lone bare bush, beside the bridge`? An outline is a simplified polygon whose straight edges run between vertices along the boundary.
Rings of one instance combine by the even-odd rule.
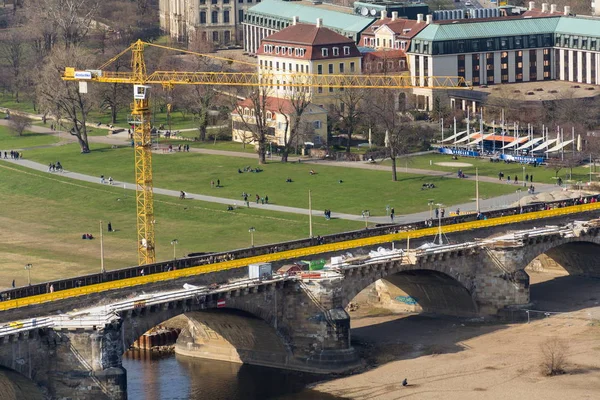
[[[315,389],[377,400],[599,398],[600,280],[533,275],[537,307],[566,313],[530,324],[353,315],[353,341],[373,368]],[[540,345],[553,337],[568,344],[567,373],[546,377]]]

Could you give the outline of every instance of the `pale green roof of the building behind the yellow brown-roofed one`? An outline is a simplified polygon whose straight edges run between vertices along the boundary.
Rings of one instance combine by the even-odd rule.
[[[317,18],[323,18],[323,26],[336,31],[360,33],[375,21],[360,15],[346,14],[339,11],[309,7],[302,4],[294,4],[291,1],[263,0],[248,11],[275,18],[292,20],[297,16],[299,22],[316,24]]]

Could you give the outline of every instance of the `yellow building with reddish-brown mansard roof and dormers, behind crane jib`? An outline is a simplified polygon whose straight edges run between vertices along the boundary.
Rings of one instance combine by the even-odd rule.
[[[361,53],[354,41],[316,25],[293,24],[261,42],[258,49],[259,74],[273,83],[272,95],[286,98],[305,91],[311,101],[325,107],[333,104],[343,90],[332,87],[294,87],[294,74],[360,74]]]

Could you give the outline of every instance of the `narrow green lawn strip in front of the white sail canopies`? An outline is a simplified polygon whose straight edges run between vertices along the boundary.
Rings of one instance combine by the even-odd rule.
[[[408,164],[405,164],[408,161]],[[430,165],[431,161],[431,165]],[[462,162],[472,164],[472,167],[443,167],[436,165],[439,162]],[[389,165],[389,161],[385,164]],[[452,156],[446,154],[426,154],[423,156],[408,157],[406,159],[400,159],[398,161],[399,170],[408,165],[408,168],[420,168],[434,171],[447,171],[457,172],[459,169],[467,175],[475,175],[475,168],[478,169],[479,175],[491,176],[494,178],[498,177],[498,173],[502,171],[504,178],[508,176],[514,179],[515,175],[519,177],[519,180],[523,179],[523,167],[525,167],[525,174],[533,174],[534,181],[538,183],[555,183],[554,179],[555,171],[545,166],[539,166],[534,168],[532,165],[523,165],[518,163],[505,164],[504,162],[492,163],[489,158],[479,159],[472,157],[458,157],[458,160],[452,160]],[[563,180],[568,180],[570,171],[566,168],[559,171],[558,176]],[[597,179],[597,178],[595,178]],[[587,167],[573,168],[572,180],[578,181],[583,180],[587,182],[589,180],[589,169]]]

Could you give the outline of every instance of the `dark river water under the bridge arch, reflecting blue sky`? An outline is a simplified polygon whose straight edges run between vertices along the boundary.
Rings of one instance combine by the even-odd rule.
[[[123,357],[129,400],[335,400],[305,389],[322,376],[130,351]]]

